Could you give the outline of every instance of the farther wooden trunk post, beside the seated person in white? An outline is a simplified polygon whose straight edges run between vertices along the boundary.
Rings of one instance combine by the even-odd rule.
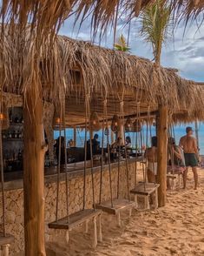
[[[157,153],[157,182],[159,207],[166,204],[167,198],[167,147],[168,147],[168,107],[159,105],[158,118],[158,153]]]

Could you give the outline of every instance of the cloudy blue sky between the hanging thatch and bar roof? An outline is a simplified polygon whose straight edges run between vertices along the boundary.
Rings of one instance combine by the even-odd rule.
[[[91,38],[89,19],[82,24],[80,30],[78,30],[78,24],[73,30],[73,24],[74,18],[70,17],[61,28],[60,34],[89,41]],[[124,28],[124,24],[124,21],[119,20],[117,37],[121,34],[127,37],[128,28]],[[153,59],[151,45],[142,41],[139,35],[139,26],[138,20],[131,23],[129,37],[131,53]],[[199,30],[195,23],[189,24],[185,35],[183,35],[183,32],[184,24],[180,24],[174,31],[174,39],[170,38],[168,43],[163,45],[161,64],[166,67],[177,68],[181,77],[204,82],[204,24],[201,25]],[[111,30],[108,30],[107,37],[102,39],[101,44],[112,48],[113,33]]]

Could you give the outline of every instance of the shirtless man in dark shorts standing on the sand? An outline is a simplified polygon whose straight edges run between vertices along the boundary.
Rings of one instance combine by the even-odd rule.
[[[198,152],[198,146],[196,142],[196,138],[194,138],[192,135],[194,133],[192,127],[186,128],[187,135],[181,137],[179,145],[183,149],[184,152],[184,158],[185,158],[185,164],[187,166],[186,171],[183,173],[183,188],[186,188],[187,185],[187,173],[188,173],[188,167],[192,167],[192,171],[194,172],[194,189],[197,189],[198,185],[198,172],[197,172],[197,166],[198,166],[198,159],[199,159],[199,152]]]

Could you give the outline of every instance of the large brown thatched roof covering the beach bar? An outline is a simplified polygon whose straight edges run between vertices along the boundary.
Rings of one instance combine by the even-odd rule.
[[[101,112],[107,95],[111,115],[118,109],[124,91],[126,115],[135,113],[136,101],[140,100],[142,112],[147,112],[148,105],[156,111],[158,104],[168,104],[173,113],[188,110],[188,118],[204,117],[202,87],[148,59],[58,36],[54,44],[42,45],[37,62],[30,62],[35,60],[35,54],[26,40],[17,37],[12,41],[9,36],[6,39],[2,46],[3,91],[23,94],[38,83],[43,98],[54,104],[61,103],[66,94],[69,114],[76,117],[70,124],[76,119],[82,122],[88,92],[93,107]],[[30,58],[30,54],[34,56]]]

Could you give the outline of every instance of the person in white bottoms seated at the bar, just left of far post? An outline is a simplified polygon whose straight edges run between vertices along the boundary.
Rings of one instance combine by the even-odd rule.
[[[145,158],[148,159],[148,182],[155,182],[157,175],[157,137],[151,138],[152,146],[145,151]]]

